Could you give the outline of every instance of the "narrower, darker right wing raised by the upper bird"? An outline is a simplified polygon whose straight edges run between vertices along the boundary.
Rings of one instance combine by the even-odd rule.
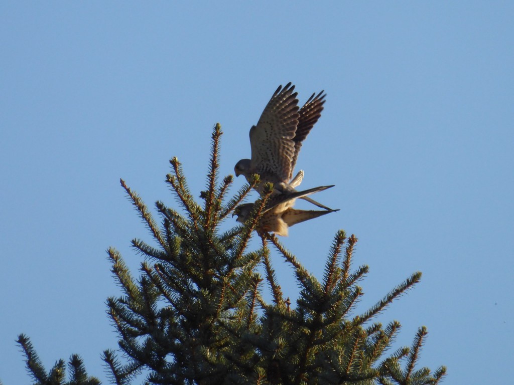
[[[295,137],[292,139],[295,142],[295,154],[291,160],[291,174],[289,179],[292,178],[292,173],[295,170],[296,161],[298,159],[298,152],[302,147],[302,142],[307,138],[310,130],[314,127],[316,122],[321,116],[323,111],[323,104],[325,103],[326,93],[321,91],[317,95],[313,93],[311,97],[305,102],[302,108],[298,111],[298,127],[296,129]],[[316,98],[314,97],[316,95]]]

